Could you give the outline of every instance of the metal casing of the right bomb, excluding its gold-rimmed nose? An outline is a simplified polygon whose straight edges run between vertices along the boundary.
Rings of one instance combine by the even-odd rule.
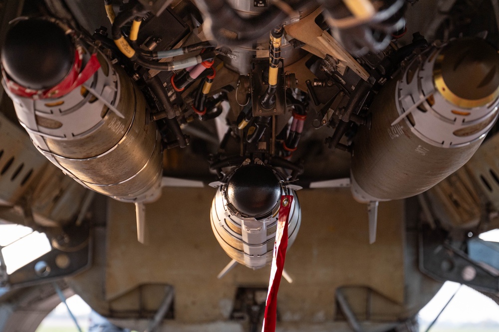
[[[359,129],[352,157],[357,200],[402,199],[430,189],[463,166],[494,126],[498,99],[460,107],[437,88],[442,49],[417,57],[372,103],[372,128]]]

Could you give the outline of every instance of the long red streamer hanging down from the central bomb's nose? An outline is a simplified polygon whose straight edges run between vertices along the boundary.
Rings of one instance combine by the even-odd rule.
[[[272,255],[272,265],[270,268],[270,279],[268,281],[267,301],[265,303],[265,315],[263,317],[263,327],[261,332],[274,332],[277,316],[277,292],[279,291],[282,270],[287,250],[287,226],[289,211],[293,196],[281,196],[279,208],[279,218],[277,219],[277,231],[275,233],[274,252]]]

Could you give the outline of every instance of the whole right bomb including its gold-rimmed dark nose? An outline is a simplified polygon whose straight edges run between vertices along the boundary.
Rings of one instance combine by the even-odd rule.
[[[481,39],[431,46],[373,101],[355,138],[351,181],[362,202],[428,190],[477,151],[498,118],[499,54]]]

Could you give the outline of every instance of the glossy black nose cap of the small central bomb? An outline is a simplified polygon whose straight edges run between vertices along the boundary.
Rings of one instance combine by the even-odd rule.
[[[280,198],[279,180],[263,165],[248,165],[236,170],[227,185],[229,202],[241,213],[259,217],[269,213]]]

